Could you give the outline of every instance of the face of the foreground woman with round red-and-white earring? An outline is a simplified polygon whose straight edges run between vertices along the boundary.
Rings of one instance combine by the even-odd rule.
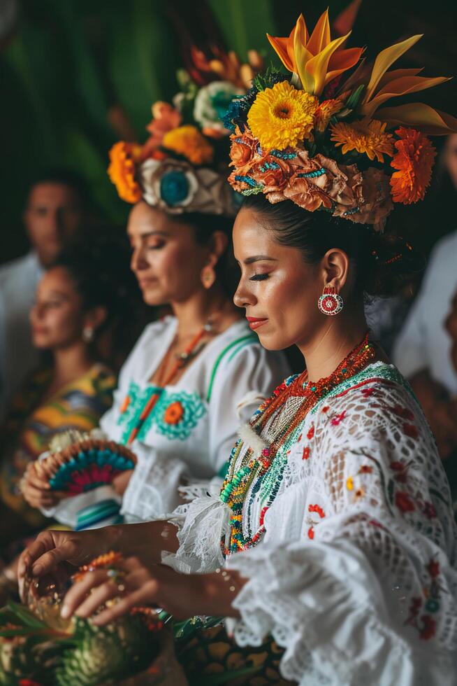
[[[268,350],[306,345],[322,325],[319,265],[307,265],[298,248],[278,245],[250,209],[235,219],[233,247],[241,268],[234,302],[245,307],[261,344]]]

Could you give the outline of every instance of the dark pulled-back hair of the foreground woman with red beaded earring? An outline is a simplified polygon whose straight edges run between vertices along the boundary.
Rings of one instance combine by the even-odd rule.
[[[242,207],[254,211],[280,245],[302,251],[309,264],[317,264],[331,248],[340,248],[354,263],[354,289],[368,295],[395,295],[424,267],[403,239],[326,211],[309,212],[291,200],[271,204],[264,195],[248,196]]]

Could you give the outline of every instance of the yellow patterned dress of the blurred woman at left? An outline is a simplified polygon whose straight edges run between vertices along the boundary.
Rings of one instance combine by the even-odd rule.
[[[68,429],[90,431],[113,402],[116,377],[95,364],[79,379],[42,400],[52,379],[51,370],[31,374],[15,395],[1,435],[0,496],[31,526],[41,526],[39,510],[29,507],[18,490],[27,465],[47,448],[52,437]]]

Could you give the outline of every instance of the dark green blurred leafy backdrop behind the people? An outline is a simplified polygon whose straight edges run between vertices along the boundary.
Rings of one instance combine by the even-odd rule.
[[[119,229],[129,206],[106,176],[108,149],[130,134],[146,138],[150,106],[171,99],[182,66],[182,29],[201,48],[212,20],[226,48],[242,59],[249,48],[266,61],[266,40],[289,34],[300,12],[312,28],[329,6],[335,18],[347,0],[0,0],[0,262],[27,250],[21,223],[29,179],[38,169],[75,169],[87,181],[97,214]],[[424,36],[399,62],[425,66],[424,75],[457,71],[457,3],[363,0],[348,45],[367,45],[368,58],[412,34]],[[277,63],[277,62],[275,62]],[[457,83],[419,93],[457,115]],[[402,102],[398,99],[398,102]],[[115,122],[115,123],[114,123]],[[124,135],[126,137],[126,135]],[[439,139],[438,139],[439,141]],[[455,190],[436,166],[426,201],[396,209],[391,224],[428,251],[456,228]]]

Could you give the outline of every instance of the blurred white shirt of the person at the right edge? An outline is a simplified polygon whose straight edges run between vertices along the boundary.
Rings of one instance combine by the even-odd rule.
[[[393,361],[405,377],[428,369],[452,395],[457,395],[457,371],[444,320],[456,291],[457,231],[436,244],[419,295],[393,346]]]

